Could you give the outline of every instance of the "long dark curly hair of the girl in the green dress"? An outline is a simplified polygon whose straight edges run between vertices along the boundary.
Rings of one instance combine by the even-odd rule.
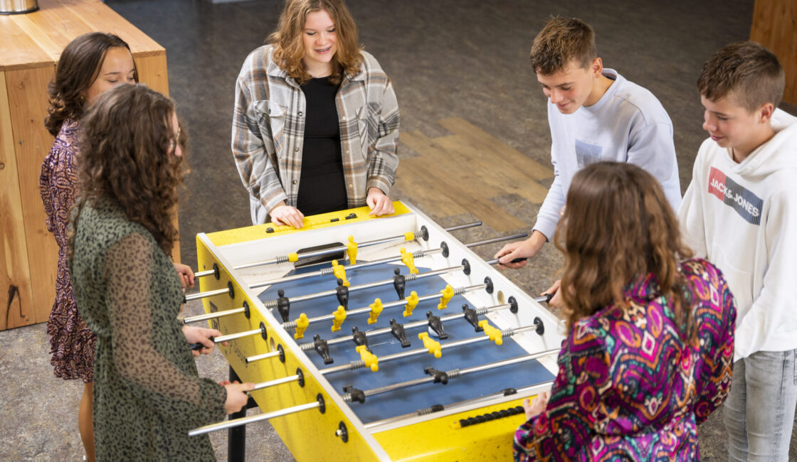
[[[80,141],[80,190],[73,222],[84,205],[116,202],[128,220],[143,225],[163,252],[178,237],[172,224],[183,157],[173,155],[179,140],[171,127],[175,104],[145,84],[117,85],[104,92],[84,115]],[[75,229],[76,226],[73,226]],[[70,256],[74,236],[69,237]]]

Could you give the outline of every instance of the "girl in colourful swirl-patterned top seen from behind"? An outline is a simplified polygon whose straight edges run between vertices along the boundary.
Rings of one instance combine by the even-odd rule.
[[[722,273],[691,258],[662,186],[630,163],[579,170],[555,236],[569,335],[550,401],[524,402],[515,460],[699,460],[697,425],[731,384]]]

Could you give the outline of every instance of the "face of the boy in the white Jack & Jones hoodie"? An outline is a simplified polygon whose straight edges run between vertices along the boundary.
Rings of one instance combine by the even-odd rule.
[[[736,104],[732,95],[716,101],[701,95],[701,103],[705,108],[703,129],[718,146],[730,147],[737,162],[774,135],[770,123],[774,111],[771,103],[753,112]]]

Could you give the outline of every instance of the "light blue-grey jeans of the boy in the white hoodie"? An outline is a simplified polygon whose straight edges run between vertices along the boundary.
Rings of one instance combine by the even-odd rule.
[[[797,406],[797,350],[759,351],[733,364],[724,406],[728,460],[789,459]]]

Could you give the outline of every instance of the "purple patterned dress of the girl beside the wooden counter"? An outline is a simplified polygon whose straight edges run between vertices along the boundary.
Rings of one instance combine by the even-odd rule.
[[[75,158],[79,131],[76,121],[64,121],[49,155],[41,164],[39,193],[45,204],[47,229],[53,233],[58,243],[55,303],[47,321],[50,353],[53,354],[50,363],[55,367],[56,377],[66,380],[82,378],[83,382],[88,383],[94,381],[96,336],[88,330],[77,312],[67,263],[69,216],[77,198]]]

